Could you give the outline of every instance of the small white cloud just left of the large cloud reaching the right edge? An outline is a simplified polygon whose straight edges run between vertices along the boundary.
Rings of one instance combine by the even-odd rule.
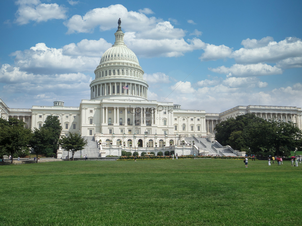
[[[204,53],[199,59],[204,61],[211,61],[217,59],[230,58],[232,55],[232,49],[225,45],[215,46],[213,44],[206,44]]]

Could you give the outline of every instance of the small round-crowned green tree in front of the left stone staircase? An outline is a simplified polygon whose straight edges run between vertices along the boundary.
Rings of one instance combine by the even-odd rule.
[[[62,136],[59,140],[59,144],[65,151],[70,151],[73,156],[77,151],[83,150],[87,146],[87,139],[82,137],[81,134],[69,132],[67,136]]]

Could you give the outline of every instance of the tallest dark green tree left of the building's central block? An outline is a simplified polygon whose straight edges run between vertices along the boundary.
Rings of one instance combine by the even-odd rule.
[[[47,143],[47,148],[43,149],[42,154],[50,157],[58,150],[62,126],[57,116],[48,115],[42,127],[47,129],[49,133],[47,140],[45,140],[45,143]]]

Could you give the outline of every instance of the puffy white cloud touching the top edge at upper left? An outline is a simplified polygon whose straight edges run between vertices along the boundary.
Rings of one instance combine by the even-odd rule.
[[[56,3],[44,4],[39,0],[19,0],[15,23],[28,24],[30,21],[42,22],[51,19],[66,19],[66,8]]]

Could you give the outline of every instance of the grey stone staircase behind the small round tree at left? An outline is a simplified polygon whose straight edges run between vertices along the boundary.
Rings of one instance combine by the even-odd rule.
[[[84,157],[84,155],[87,155],[88,157],[99,157],[100,151],[98,148],[98,144],[95,142],[94,137],[85,137],[88,141],[87,146],[81,151],[77,151],[74,158],[80,158],[81,155]],[[67,151],[63,150],[62,158],[65,159],[68,155]],[[69,152],[69,158],[72,157],[72,154]]]

